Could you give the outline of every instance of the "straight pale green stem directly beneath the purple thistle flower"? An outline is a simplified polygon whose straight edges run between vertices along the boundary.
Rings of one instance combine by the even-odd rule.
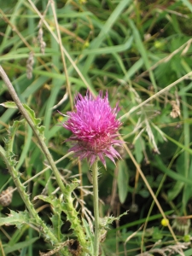
[[[95,217],[95,238],[94,238],[94,256],[99,255],[99,196],[98,196],[98,160],[92,166],[93,172],[93,205]]]

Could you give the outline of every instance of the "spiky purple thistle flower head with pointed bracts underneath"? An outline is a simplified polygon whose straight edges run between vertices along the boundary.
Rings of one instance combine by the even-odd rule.
[[[118,136],[119,119],[116,119],[119,112],[118,104],[111,108],[108,102],[108,92],[102,98],[102,91],[99,96],[92,96],[90,91],[86,96],[78,94],[75,99],[75,111],[67,112],[67,121],[62,125],[73,135],[68,139],[75,144],[69,151],[83,160],[86,158],[90,166],[98,157],[106,167],[105,157],[114,163],[115,157],[120,157],[113,145],[121,146],[121,141],[116,140]]]

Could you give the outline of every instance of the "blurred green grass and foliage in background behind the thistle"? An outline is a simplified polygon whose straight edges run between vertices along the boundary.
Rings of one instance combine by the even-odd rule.
[[[66,118],[61,117],[57,110],[61,113],[70,111],[77,92],[85,94],[86,90],[91,90],[96,95],[99,90],[108,90],[111,106],[119,102],[119,117],[130,113],[122,119],[120,134],[151,189],[154,193],[158,191],[158,201],[170,216],[170,223],[177,219],[173,213],[185,216],[182,220],[189,220],[192,215],[192,73],[181,78],[192,68],[192,3],[189,0],[54,1],[66,60],[65,73],[50,2],[19,0],[1,3],[0,63],[21,102],[32,108],[42,120],[46,143],[54,159],[67,154],[70,147],[66,142],[70,132],[60,123]],[[176,82],[177,79],[181,80]],[[170,90],[156,95],[174,82]],[[138,106],[150,96],[154,97]],[[0,81],[0,103],[9,101],[12,101],[9,92]],[[9,124],[19,119],[16,108],[0,106],[2,145]],[[27,125],[20,126],[15,142],[14,152],[19,161],[17,169],[25,182],[42,171],[47,163]],[[107,172],[101,165],[99,193],[104,204],[101,203],[100,212],[104,217],[130,211],[111,225],[102,243],[102,255],[135,256],[141,248],[148,251],[159,240],[157,247],[162,250],[175,245],[170,231],[161,226],[159,209],[130,155],[125,150],[120,154],[122,160],[118,160],[116,166],[107,160]],[[70,157],[57,166],[68,181],[74,175],[82,174],[81,185],[90,186],[86,161],[78,165],[77,160]],[[14,186],[14,182],[1,159],[0,168],[0,190],[3,191]],[[50,171],[27,183],[31,199],[40,195],[44,188],[48,195],[57,188]],[[76,196],[84,199],[85,207],[92,211],[90,191],[89,187],[84,187],[83,193],[77,189]],[[44,207],[40,200],[36,204],[39,215],[49,223],[51,207]],[[10,206],[1,208],[1,216],[9,213],[9,209],[21,211],[24,208],[15,191]],[[65,216],[62,218],[65,224],[61,232],[70,237],[70,224]],[[143,224],[146,226],[138,230]],[[184,236],[190,237],[190,224],[188,229],[186,226],[184,221],[174,226],[178,241],[185,241]],[[32,256],[49,250],[42,238],[37,240],[38,232],[28,225],[20,230],[3,226],[0,232],[2,254],[5,251],[6,255]],[[191,255],[189,245],[185,255]]]

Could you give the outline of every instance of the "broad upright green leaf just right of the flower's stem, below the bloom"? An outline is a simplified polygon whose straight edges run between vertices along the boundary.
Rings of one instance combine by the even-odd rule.
[[[123,204],[128,193],[129,173],[125,161],[119,160],[118,189],[119,200]]]

